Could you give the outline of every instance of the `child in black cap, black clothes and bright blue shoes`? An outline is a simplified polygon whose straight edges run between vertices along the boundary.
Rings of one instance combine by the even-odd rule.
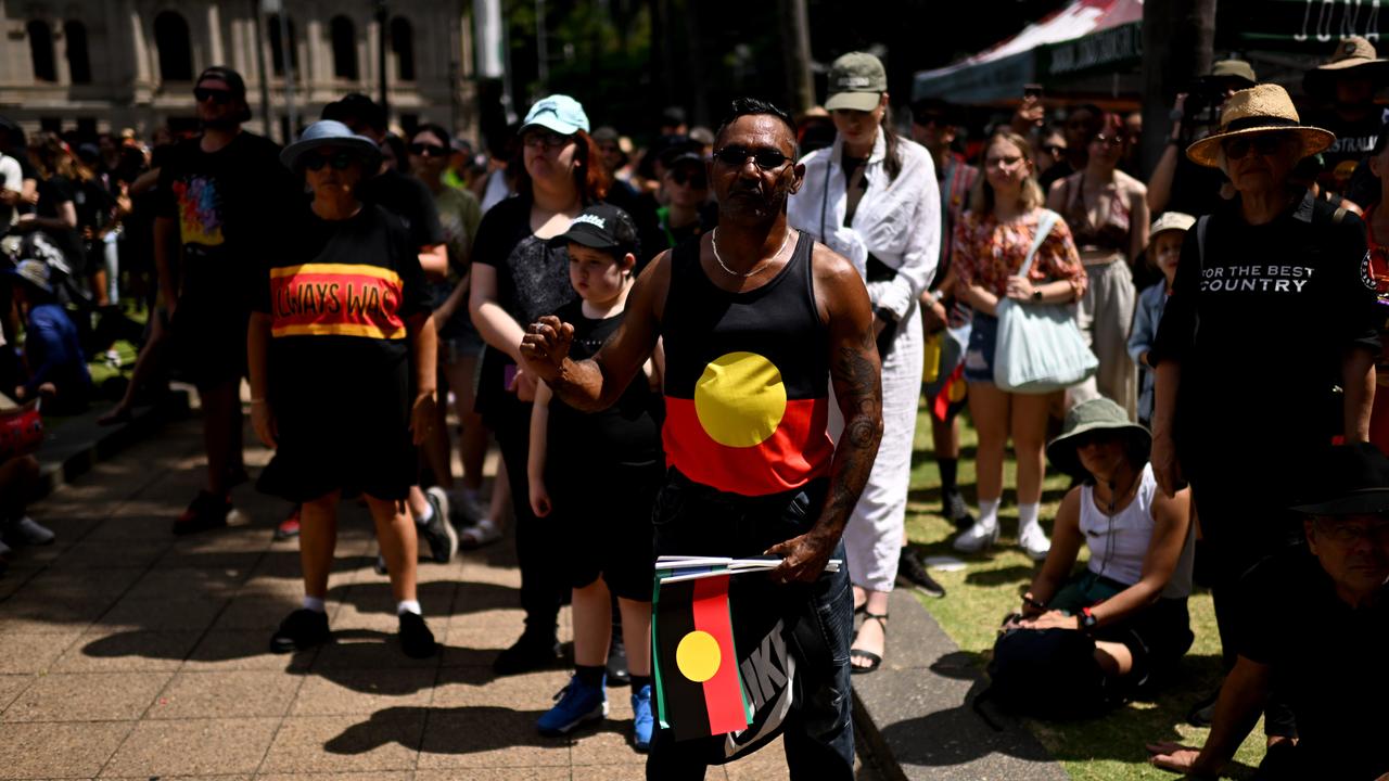
[[[593,356],[622,322],[636,265],[636,225],[597,204],[554,239],[569,252],[569,282],[581,299],[556,315],[574,327],[569,357]],[[657,365],[658,365],[657,359]],[[651,504],[664,474],[657,375],[647,364],[613,407],[585,414],[540,385],[531,414],[531,507],[549,518],[574,586],[575,674],[536,724],[563,735],[607,716],[604,663],[611,595],[618,598],[632,678],[633,745],[651,742]]]

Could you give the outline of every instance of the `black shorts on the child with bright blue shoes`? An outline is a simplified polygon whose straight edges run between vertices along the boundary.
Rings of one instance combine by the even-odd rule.
[[[554,528],[565,577],[583,588],[600,577],[622,599],[650,602],[656,577],[651,553],[651,506],[665,478],[661,464],[618,466],[593,477],[590,470],[556,485],[547,481],[554,510],[539,523]],[[561,475],[563,470],[551,474]]]

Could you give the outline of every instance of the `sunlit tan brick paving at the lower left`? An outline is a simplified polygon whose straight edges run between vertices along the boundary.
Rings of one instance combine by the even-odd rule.
[[[344,507],[336,642],[267,653],[303,593],[296,545],[271,542],[285,507],[242,486],[242,525],[174,539],[171,518],[201,482],[199,447],[196,421],[174,424],[32,507],[58,542],[17,552],[0,578],[0,778],[642,778],[626,689],[610,692],[601,728],[547,739],[533,723],[567,673],[493,678],[521,630],[506,542],[421,564],[444,649],[414,661],[392,638],[369,518]],[[708,778],[786,770],[771,746]]]

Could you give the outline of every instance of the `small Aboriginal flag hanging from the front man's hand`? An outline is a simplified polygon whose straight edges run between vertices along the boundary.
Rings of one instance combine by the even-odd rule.
[[[656,586],[656,707],[661,727],[674,730],[676,741],[736,732],[749,724],[733,655],[728,578]]]

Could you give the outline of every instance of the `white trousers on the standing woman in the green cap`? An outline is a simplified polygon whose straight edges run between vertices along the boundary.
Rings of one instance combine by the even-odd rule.
[[[917,435],[917,400],[921,397],[922,349],[921,310],[911,307],[882,364],[883,432],[878,459],[845,528],[849,578],[856,586],[871,591],[892,591],[897,579],[911,482],[911,445]],[[839,404],[831,397],[829,434],[836,443],[843,428]]]

